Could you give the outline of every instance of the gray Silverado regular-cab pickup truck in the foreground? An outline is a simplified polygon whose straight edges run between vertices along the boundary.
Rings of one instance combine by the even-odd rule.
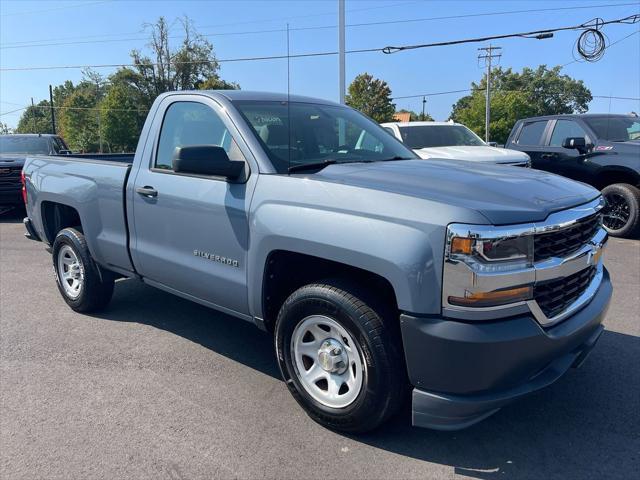
[[[313,98],[163,94],[135,155],[28,158],[24,188],[72,309],[128,277],[254,322],[341,431],[409,399],[417,426],[488,417],[582,363],[612,292],[594,188],[425,162]]]

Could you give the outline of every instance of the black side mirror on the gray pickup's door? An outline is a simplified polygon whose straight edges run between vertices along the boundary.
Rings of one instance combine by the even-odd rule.
[[[222,147],[216,145],[189,145],[177,147],[172,160],[176,173],[214,175],[238,178],[244,171],[244,162],[231,160]]]

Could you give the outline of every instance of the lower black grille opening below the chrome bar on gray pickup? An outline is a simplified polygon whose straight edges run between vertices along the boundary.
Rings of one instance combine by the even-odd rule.
[[[568,277],[536,285],[533,297],[547,318],[553,318],[582,295],[596,271],[596,267],[589,267]]]

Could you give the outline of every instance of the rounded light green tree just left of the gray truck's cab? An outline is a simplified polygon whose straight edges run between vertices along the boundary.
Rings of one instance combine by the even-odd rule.
[[[139,92],[131,85],[109,87],[100,102],[100,133],[109,151],[135,151],[146,116],[140,105]]]

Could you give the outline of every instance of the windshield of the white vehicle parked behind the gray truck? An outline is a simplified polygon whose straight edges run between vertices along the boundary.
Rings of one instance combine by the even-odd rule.
[[[463,125],[415,125],[399,128],[402,141],[413,149],[485,145],[475,133]]]

